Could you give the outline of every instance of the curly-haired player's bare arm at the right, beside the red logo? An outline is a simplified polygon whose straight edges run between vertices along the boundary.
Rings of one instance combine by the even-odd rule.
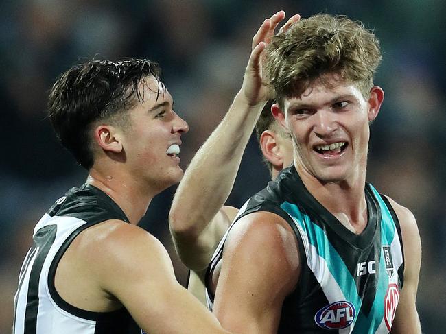
[[[416,291],[421,266],[420,235],[414,215],[407,208],[390,198],[389,200],[400,222],[405,263],[403,289],[399,296],[392,333],[421,334],[421,324],[416,311]]]

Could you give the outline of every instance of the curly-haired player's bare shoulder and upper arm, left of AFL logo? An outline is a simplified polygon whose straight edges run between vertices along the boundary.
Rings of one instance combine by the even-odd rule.
[[[231,229],[215,291],[214,313],[235,333],[277,333],[283,300],[298,281],[298,246],[273,213],[253,213]]]

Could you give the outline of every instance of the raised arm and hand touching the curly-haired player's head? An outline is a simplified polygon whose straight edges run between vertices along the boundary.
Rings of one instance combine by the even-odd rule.
[[[231,221],[232,217],[221,208],[231,193],[257,118],[270,97],[262,81],[261,58],[284,17],[281,11],[266,19],[253,37],[242,88],[218,128],[192,159],[176,191],[169,226],[180,258],[193,270],[201,270],[209,263]],[[298,18],[293,16],[285,29]]]

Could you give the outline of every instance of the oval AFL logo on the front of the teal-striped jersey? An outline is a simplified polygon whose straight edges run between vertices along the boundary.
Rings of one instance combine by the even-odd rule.
[[[355,320],[356,310],[351,302],[341,300],[322,307],[314,315],[314,321],[322,329],[344,329]]]

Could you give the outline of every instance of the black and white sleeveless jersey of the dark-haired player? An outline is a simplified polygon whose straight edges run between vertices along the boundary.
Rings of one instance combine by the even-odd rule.
[[[13,334],[126,333],[134,323],[126,309],[97,313],[65,302],[54,287],[56,268],[82,230],[119,219],[124,212],[106,193],[89,185],[70,189],[34,228],[14,299]]]

